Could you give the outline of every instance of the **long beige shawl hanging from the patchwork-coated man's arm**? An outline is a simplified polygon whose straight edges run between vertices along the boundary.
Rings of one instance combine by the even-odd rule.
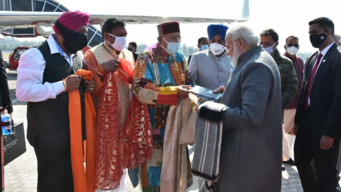
[[[170,106],[163,145],[161,192],[186,192],[193,183],[186,145],[179,144],[185,125],[195,128],[195,119],[189,118],[192,106],[189,97],[179,99],[177,106]]]

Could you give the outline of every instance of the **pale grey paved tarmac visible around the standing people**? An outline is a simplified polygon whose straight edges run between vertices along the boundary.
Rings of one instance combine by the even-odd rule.
[[[15,122],[24,122],[24,132],[26,136],[26,102],[19,101],[15,96],[15,86],[17,79],[16,71],[7,71],[8,84],[13,103],[13,119]],[[193,158],[193,146],[189,146],[190,157]],[[282,171],[282,192],[303,192],[298,176],[297,168],[284,164],[286,170]],[[34,149],[26,140],[26,152],[4,167],[5,192],[36,192],[37,190],[37,160]],[[197,192],[197,182],[187,192]],[[126,192],[140,192],[131,185],[129,177],[125,178]],[[138,187],[137,187],[138,188]]]

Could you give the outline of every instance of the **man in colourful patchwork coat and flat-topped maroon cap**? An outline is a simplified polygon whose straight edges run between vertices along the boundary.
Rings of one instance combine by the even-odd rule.
[[[154,122],[151,132],[154,163],[141,169],[141,178],[147,178],[142,179],[141,186],[143,191],[186,192],[190,186],[187,184],[193,182],[192,172],[188,169],[191,162],[187,161],[189,157],[185,146],[179,144],[180,126],[173,124],[180,122],[176,118],[181,118],[181,114],[176,116],[175,111],[168,111],[171,105],[179,104],[178,109],[181,108],[185,102],[178,103],[180,99],[189,101],[189,89],[194,82],[190,78],[185,55],[179,51],[179,23],[165,22],[157,25],[157,30],[158,43],[140,53],[132,83],[133,93],[141,103],[148,104],[149,118]],[[142,109],[140,111],[144,113]],[[176,170],[184,171],[177,174]]]

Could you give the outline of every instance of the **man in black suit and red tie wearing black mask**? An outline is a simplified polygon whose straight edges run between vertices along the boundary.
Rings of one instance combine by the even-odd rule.
[[[309,22],[309,34],[318,51],[305,63],[295,116],[294,157],[304,192],[335,192],[341,138],[341,53],[330,19]]]

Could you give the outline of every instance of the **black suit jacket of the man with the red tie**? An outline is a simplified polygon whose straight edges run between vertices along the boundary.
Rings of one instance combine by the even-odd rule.
[[[304,81],[297,106],[295,124],[306,114],[308,81],[318,51],[308,57],[304,66]],[[308,117],[308,116],[307,116]],[[341,128],[341,53],[334,43],[323,57],[310,92],[309,128],[317,136],[335,137]]]

